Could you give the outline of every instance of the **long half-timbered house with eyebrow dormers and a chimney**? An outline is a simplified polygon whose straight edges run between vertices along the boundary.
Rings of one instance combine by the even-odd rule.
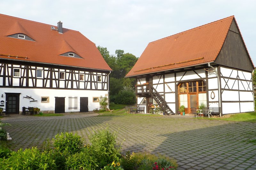
[[[88,112],[108,97],[111,71],[78,31],[0,14],[0,100],[11,114]]]

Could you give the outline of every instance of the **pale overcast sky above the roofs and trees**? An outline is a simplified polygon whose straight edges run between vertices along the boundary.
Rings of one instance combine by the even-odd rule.
[[[1,0],[0,13],[81,32],[110,54],[235,15],[256,66],[255,0]]]

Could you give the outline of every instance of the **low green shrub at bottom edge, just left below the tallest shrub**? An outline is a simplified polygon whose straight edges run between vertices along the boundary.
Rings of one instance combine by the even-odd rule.
[[[98,165],[95,158],[93,158],[88,152],[79,152],[68,157],[66,166],[69,170],[95,170]]]

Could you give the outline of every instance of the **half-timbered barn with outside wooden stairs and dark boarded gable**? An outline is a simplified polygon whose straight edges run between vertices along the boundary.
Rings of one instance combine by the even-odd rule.
[[[164,114],[219,108],[220,115],[254,111],[254,65],[234,16],[150,42],[126,77],[137,79],[137,104]]]

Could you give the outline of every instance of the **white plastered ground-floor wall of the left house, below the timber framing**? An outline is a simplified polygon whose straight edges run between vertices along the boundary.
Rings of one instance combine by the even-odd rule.
[[[20,88],[0,88],[0,94],[4,94],[2,98],[5,100],[5,92],[12,93],[20,93],[20,111],[22,111],[22,107],[38,107],[42,111],[44,110],[54,110],[55,109],[55,97],[65,97],[65,112],[79,112],[80,111],[80,97],[88,97],[88,107],[89,110],[93,110],[95,108],[100,108],[99,102],[92,102],[93,97],[105,96],[108,94],[108,91],[98,91],[98,90],[61,90],[61,89],[20,89]],[[26,95],[31,96],[37,101],[31,102],[27,98],[23,98]],[[49,103],[41,103],[41,96],[49,96]],[[68,96],[77,96],[77,110],[68,109]],[[4,103],[5,105],[5,103]],[[74,103],[73,103],[74,105]],[[5,108],[5,106],[4,106]]]

